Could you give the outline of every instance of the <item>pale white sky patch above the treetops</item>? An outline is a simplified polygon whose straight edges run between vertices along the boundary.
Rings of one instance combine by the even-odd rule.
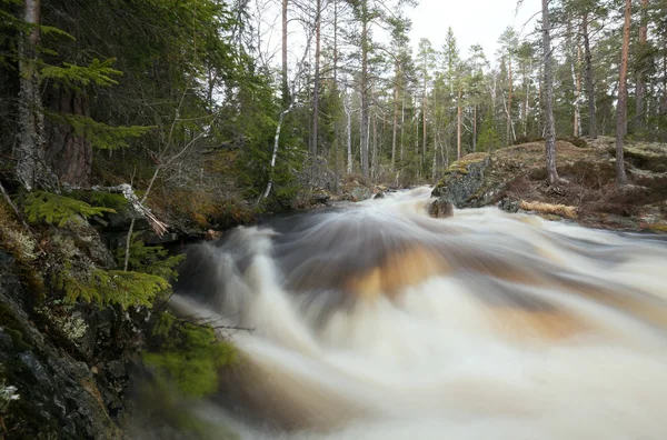
[[[412,19],[410,41],[417,47],[421,38],[428,38],[434,49],[440,50],[451,27],[462,58],[468,57],[470,46],[479,43],[492,60],[498,38],[508,26],[520,36],[534,30],[535,19],[521,32],[524,23],[540,12],[541,3],[524,0],[515,16],[516,7],[517,0],[419,0],[417,8],[406,9]]]

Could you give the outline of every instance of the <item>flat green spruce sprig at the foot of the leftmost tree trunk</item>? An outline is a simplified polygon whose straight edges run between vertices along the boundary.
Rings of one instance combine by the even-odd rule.
[[[91,207],[84,201],[46,191],[30,192],[23,202],[23,211],[30,222],[44,221],[48,224],[57,224],[59,228],[64,227],[70,220],[76,220],[79,216],[89,219],[104,212],[116,212],[111,208]]]

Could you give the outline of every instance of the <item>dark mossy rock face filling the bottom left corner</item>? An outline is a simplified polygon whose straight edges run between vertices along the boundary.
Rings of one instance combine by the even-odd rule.
[[[30,294],[19,271],[0,250],[0,386],[19,394],[0,413],[0,437],[121,439],[104,404],[109,390],[98,388],[88,366],[54,347],[23,311]]]

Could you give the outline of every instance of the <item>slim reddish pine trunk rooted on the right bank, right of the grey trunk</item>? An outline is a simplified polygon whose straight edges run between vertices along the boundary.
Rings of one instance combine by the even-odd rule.
[[[628,77],[628,54],[630,48],[630,16],[633,13],[631,0],[626,0],[625,22],[623,26],[623,47],[620,50],[620,73],[618,78],[618,103],[616,108],[616,182],[619,186],[626,184],[628,178],[625,172],[625,161],[623,158],[623,141],[627,124],[627,77]]]

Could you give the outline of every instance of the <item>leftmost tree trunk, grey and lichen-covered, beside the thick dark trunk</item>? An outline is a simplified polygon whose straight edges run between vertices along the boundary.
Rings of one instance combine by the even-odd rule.
[[[31,28],[19,41],[19,136],[13,154],[17,178],[30,191],[44,168],[44,112],[37,71],[40,41],[40,0],[26,0],[23,21]]]

